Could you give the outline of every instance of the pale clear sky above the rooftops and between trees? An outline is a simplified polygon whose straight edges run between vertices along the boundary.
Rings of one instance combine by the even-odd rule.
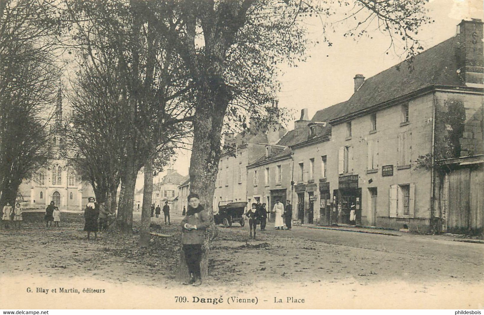
[[[481,0],[430,0],[427,8],[435,22],[419,31],[425,49],[453,37],[463,18],[483,18]],[[306,62],[282,68],[279,107],[293,109],[294,120],[299,119],[302,108],[308,109],[311,119],[319,109],[347,100],[353,93],[356,74],[369,78],[405,59],[403,51],[388,50],[389,38],[379,31],[370,33],[372,39],[362,38],[356,42],[342,35],[344,28],[345,25],[341,25],[339,31],[331,34],[331,47],[324,43],[310,47]],[[311,28],[309,37],[322,42],[322,31],[317,23]],[[293,128],[292,121],[288,130]],[[173,168],[187,175],[189,165],[190,151],[182,150]]]

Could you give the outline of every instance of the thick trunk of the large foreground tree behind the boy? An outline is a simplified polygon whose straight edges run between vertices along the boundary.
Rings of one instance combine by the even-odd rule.
[[[212,81],[213,82],[213,81]],[[213,223],[212,200],[215,192],[215,180],[220,159],[220,137],[227,108],[228,99],[225,89],[211,86],[198,92],[197,119],[193,122],[194,139],[192,157],[190,159],[190,193],[200,196],[200,203],[209,212],[212,224],[205,234],[202,248],[200,270],[202,280],[208,278],[208,254],[216,227]],[[181,253],[179,280],[188,278],[185,257]]]

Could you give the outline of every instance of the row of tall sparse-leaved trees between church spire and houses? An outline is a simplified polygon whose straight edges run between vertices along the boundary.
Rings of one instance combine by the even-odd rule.
[[[13,2],[22,1],[6,1]],[[113,209],[121,183],[122,233],[131,233],[136,175],[145,167],[140,244],[147,245],[153,172],[190,138],[190,187],[212,212],[221,133],[262,116],[279,87],[278,65],[305,59],[307,19],[327,30],[344,12],[347,35],[374,25],[413,54],[422,48],[414,35],[428,22],[424,2],[66,0],[56,10],[76,65],[72,160]]]

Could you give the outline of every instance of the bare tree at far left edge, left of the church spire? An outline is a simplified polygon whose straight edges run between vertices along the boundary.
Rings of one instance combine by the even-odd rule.
[[[53,1],[0,1],[0,204],[44,165],[56,101],[59,15]]]

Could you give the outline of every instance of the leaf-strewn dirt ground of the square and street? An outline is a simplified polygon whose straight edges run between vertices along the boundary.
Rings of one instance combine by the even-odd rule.
[[[4,308],[484,307],[482,244],[270,225],[249,240],[247,226],[219,227],[210,279],[196,288],[175,277],[181,217],[172,225],[153,218],[153,231],[172,236],[153,237],[144,249],[139,213],[133,236],[100,232],[97,241],[86,239],[81,212],[63,213],[59,228],[42,218],[28,212],[22,228],[0,231]]]

